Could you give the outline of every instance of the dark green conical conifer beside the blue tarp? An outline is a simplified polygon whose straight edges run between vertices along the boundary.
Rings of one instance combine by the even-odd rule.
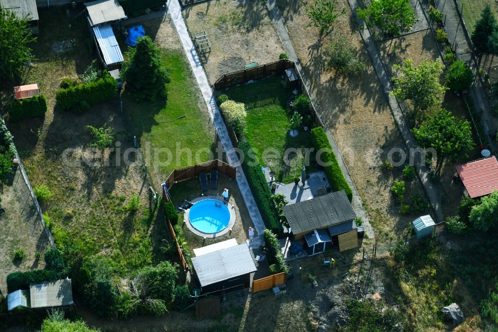
[[[167,70],[161,61],[161,51],[148,36],[140,37],[135,48],[125,54],[121,77],[126,82],[125,89],[136,100],[155,101],[158,94],[166,97],[166,83],[169,83]]]

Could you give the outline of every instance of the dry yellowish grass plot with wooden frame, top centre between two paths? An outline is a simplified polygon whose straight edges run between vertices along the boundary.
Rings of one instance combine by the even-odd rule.
[[[183,16],[191,36],[208,35],[211,53],[203,64],[211,84],[246,64],[276,61],[284,52],[264,2],[207,1],[186,7]]]

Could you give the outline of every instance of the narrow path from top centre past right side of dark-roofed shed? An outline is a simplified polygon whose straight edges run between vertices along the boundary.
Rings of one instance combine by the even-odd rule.
[[[308,93],[309,93],[310,98],[313,102],[313,105],[315,105],[318,117],[320,118],[320,120],[324,124],[325,133],[327,134],[327,137],[329,138],[330,145],[332,146],[332,150],[334,151],[334,153],[337,157],[337,161],[339,162],[339,166],[341,166],[342,172],[343,172],[344,176],[346,177],[346,181],[348,181],[349,186],[353,190],[353,202],[352,202],[353,209],[355,210],[355,213],[357,216],[362,217],[363,227],[365,228],[365,233],[367,233],[369,238],[373,239],[373,228],[372,228],[372,225],[370,224],[369,215],[368,215],[367,211],[365,210],[365,208],[363,207],[362,198],[358,194],[358,190],[356,189],[356,186],[355,186],[355,183],[353,182],[351,174],[349,173],[348,168],[346,167],[346,164],[344,163],[344,160],[342,158],[342,155],[339,152],[339,148],[337,147],[337,144],[334,141],[334,138],[332,137],[330,129],[325,121],[325,117],[323,116],[320,105],[318,104],[318,101],[315,97],[315,94],[313,93],[313,89],[311,88],[311,84],[310,84],[309,80],[306,79],[306,76],[304,75],[304,71],[303,71],[303,68],[301,66],[301,62],[299,61],[299,58],[297,57],[296,51],[294,50],[294,46],[292,45],[292,41],[290,40],[289,33],[287,32],[287,28],[285,27],[285,25],[283,23],[282,16],[280,15],[280,12],[278,11],[275,0],[267,0],[266,7],[268,9],[270,18],[273,21],[273,25],[275,26],[275,29],[278,33],[278,36],[279,36],[280,40],[282,41],[282,44],[283,44],[283,47],[285,49],[285,52],[287,53],[287,56],[289,57],[290,60],[292,60],[296,63],[296,66],[299,69],[299,72],[301,73],[304,84],[306,85],[306,89],[308,90]]]

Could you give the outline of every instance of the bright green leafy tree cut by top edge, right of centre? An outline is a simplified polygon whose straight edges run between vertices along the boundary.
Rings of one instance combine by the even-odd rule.
[[[369,7],[357,9],[358,18],[391,36],[409,30],[417,21],[409,0],[372,0]]]

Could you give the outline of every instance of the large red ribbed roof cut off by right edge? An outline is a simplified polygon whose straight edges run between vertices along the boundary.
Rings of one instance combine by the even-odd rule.
[[[472,198],[498,190],[498,161],[495,156],[456,166]]]

